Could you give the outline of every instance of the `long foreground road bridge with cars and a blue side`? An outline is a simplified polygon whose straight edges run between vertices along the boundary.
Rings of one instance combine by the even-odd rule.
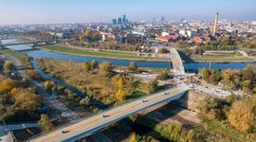
[[[52,130],[48,133],[42,133],[41,135],[33,137],[29,141],[75,141],[82,137],[88,136],[91,133],[95,133],[101,130],[101,128],[115,123],[124,117],[136,114],[137,112],[150,108],[155,104],[181,98],[183,93],[187,90],[189,90],[188,85],[178,84],[168,90],[161,91],[145,98],[139,98],[137,100],[125,103],[113,109],[84,118],[79,122],[74,122],[73,124],[69,124],[56,130]],[[104,117],[102,117],[102,115],[104,115]],[[64,131],[64,133],[62,133],[62,131]]]

